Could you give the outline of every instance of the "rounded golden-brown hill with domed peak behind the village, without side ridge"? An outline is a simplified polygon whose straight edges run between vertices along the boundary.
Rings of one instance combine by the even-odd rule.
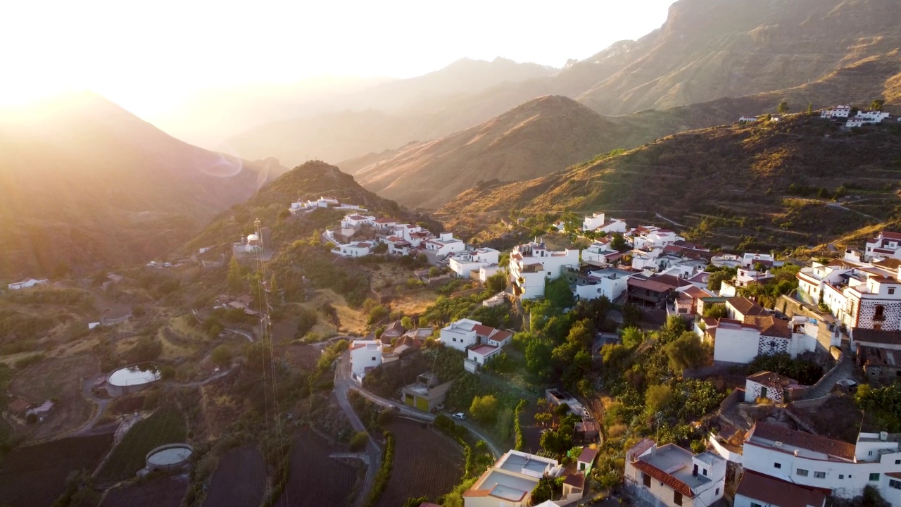
[[[412,144],[356,173],[408,207],[437,207],[479,180],[523,180],[616,147],[621,133],[566,97],[541,97],[437,141]],[[615,141],[614,141],[615,143]]]

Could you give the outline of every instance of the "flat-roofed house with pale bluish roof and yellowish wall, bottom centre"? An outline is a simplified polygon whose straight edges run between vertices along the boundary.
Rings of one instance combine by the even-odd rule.
[[[568,471],[556,459],[510,450],[463,492],[464,507],[524,507],[542,477],[563,477],[563,494],[554,505],[582,499],[585,474]],[[542,503],[543,505],[543,503]]]

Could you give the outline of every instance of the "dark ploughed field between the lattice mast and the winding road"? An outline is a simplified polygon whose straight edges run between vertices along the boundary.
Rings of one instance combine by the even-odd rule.
[[[345,507],[353,504],[362,465],[354,466],[329,457],[334,448],[309,429],[296,435],[291,447],[291,473],[278,507]],[[359,471],[359,474],[358,474]],[[316,494],[309,494],[315,488]],[[400,505],[400,504],[398,504]]]

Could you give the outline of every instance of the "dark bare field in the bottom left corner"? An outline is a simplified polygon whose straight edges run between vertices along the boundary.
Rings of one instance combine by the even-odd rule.
[[[49,506],[62,494],[69,472],[93,471],[112,443],[111,433],[15,449],[0,465],[0,504]]]

